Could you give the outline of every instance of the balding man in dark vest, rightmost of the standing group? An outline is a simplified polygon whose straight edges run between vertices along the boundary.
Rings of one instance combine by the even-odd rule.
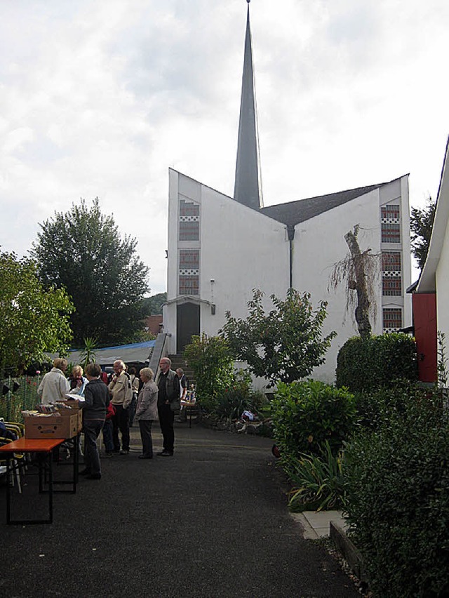
[[[175,444],[173,421],[175,420],[175,411],[180,408],[180,379],[176,372],[170,369],[170,366],[171,360],[168,357],[163,357],[159,361],[161,374],[158,383],[157,411],[163,436],[163,451],[158,453],[161,457],[173,455]]]

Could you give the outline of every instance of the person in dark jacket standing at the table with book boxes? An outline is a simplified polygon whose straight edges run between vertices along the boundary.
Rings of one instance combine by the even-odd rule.
[[[101,368],[97,364],[88,364],[86,377],[89,380],[84,390],[85,401],[83,408],[83,431],[86,448],[84,463],[86,468],[81,475],[87,479],[101,478],[100,456],[98,454],[97,439],[105,424],[106,408],[109,405],[109,390],[100,379]]]

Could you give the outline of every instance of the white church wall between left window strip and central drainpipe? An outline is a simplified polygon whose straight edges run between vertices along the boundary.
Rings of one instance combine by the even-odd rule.
[[[201,206],[201,298],[216,305],[202,328],[214,334],[225,324],[226,311],[246,317],[253,288],[267,296],[285,293],[288,241],[281,222],[208,187],[202,187]]]

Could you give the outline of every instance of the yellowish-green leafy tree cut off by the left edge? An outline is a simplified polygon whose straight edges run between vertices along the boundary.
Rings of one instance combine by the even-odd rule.
[[[0,376],[65,352],[73,309],[64,289],[43,288],[32,260],[0,253]]]

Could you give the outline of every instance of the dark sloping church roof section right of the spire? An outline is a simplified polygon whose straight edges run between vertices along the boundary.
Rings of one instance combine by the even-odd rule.
[[[392,181],[390,181],[392,182]],[[368,185],[368,187],[357,187],[356,189],[349,189],[347,191],[340,191],[337,193],[329,193],[327,195],[318,195],[316,197],[309,197],[308,199],[300,199],[298,201],[288,201],[286,204],[277,204],[276,206],[265,206],[261,208],[262,214],[283,222],[286,225],[294,226],[304,220],[309,220],[315,216],[337,208],[346,204],[351,199],[361,197],[370,191],[379,189],[383,185],[388,185],[388,182],[382,182],[379,185]]]

